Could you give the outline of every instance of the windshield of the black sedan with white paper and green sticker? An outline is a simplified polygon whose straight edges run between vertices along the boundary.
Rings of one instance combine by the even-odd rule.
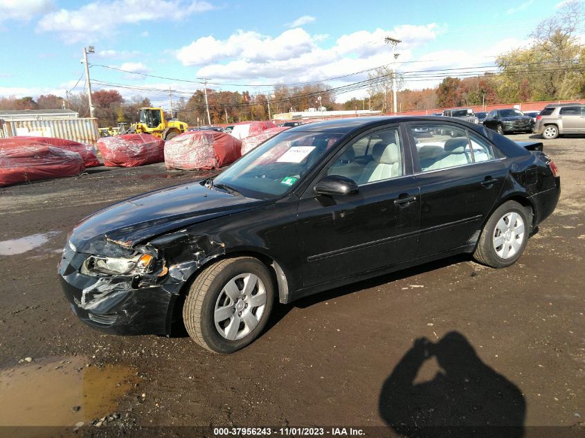
[[[273,198],[292,190],[341,138],[329,132],[282,132],[213,180],[245,196]]]

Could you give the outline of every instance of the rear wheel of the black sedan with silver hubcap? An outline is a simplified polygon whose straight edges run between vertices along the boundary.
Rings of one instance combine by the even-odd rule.
[[[492,268],[516,263],[528,243],[529,230],[525,208],[516,201],[503,203],[485,223],[474,258]]]

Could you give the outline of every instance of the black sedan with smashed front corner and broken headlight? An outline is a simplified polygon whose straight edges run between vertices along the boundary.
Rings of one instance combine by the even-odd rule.
[[[182,318],[199,345],[235,352],[276,300],[457,253],[516,262],[559,199],[541,146],[453,118],[294,127],[213,179],[81,221],[60,262],[63,289],[84,322],[111,334],[170,334]]]

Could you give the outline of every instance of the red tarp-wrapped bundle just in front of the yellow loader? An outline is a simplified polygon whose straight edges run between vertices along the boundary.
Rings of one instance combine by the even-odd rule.
[[[98,149],[107,166],[136,167],[165,161],[165,141],[150,134],[102,137]]]

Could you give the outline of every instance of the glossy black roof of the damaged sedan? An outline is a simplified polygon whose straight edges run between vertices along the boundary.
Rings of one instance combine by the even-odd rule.
[[[325,120],[324,122],[312,122],[287,129],[287,132],[335,132],[337,134],[350,134],[352,131],[361,131],[384,125],[388,122],[427,121],[439,122],[452,120],[453,122],[465,123],[458,118],[442,116],[375,116],[375,117],[352,117]],[[469,123],[466,123],[469,125]]]

